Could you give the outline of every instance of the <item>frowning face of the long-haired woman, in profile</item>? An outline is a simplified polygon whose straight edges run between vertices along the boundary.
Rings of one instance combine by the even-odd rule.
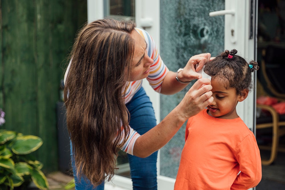
[[[131,63],[131,75],[127,81],[137,81],[148,76],[153,60],[148,56],[146,52],[146,41],[139,32],[133,30],[131,37],[135,41],[135,51]]]

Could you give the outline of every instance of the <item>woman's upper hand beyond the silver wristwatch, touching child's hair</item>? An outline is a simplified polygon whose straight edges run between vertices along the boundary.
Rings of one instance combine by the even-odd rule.
[[[180,81],[192,81],[193,79],[200,79],[202,75],[196,71],[201,70],[204,64],[212,59],[213,58],[211,58],[210,53],[192,56],[184,67],[184,70],[178,73],[178,79]],[[199,65],[196,67],[196,64]]]

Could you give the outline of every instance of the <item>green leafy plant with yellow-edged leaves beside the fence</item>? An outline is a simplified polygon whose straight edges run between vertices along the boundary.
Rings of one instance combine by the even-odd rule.
[[[43,164],[30,154],[42,146],[42,139],[15,131],[0,130],[0,189],[33,183],[39,189],[47,189],[48,181],[41,171]]]

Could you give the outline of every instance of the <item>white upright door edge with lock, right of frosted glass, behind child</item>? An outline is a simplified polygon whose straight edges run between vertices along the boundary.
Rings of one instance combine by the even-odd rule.
[[[253,14],[252,23],[249,19],[251,9],[250,2],[251,1],[248,0],[235,0],[235,2],[225,0],[225,10],[235,10],[235,15],[225,15],[225,50],[237,49],[237,54],[244,57],[248,62],[250,60],[256,60],[257,47],[255,35],[250,37],[250,24],[255,24],[255,14]],[[239,10],[245,10],[245,12]],[[226,28],[226,26],[230,26],[230,28]],[[232,29],[234,30],[234,36],[232,36]],[[236,32],[238,29],[242,32]],[[252,30],[254,30],[252,32],[255,34],[255,25]],[[253,77],[253,79],[256,80],[256,76]],[[252,90],[247,99],[243,102],[239,102],[237,105],[238,115],[254,133],[255,93],[256,90]]]

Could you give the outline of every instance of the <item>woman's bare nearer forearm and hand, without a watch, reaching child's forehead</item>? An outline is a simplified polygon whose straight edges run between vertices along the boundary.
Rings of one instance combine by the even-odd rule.
[[[133,155],[144,158],[164,146],[190,117],[196,115],[212,101],[209,79],[199,79],[186,93],[179,105],[158,125],[137,138]]]

